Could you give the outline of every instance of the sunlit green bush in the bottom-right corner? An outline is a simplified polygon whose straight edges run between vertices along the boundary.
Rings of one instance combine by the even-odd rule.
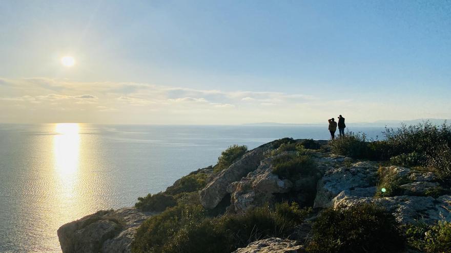
[[[419,223],[403,228],[409,248],[431,253],[451,253],[451,222],[440,221],[432,226]]]

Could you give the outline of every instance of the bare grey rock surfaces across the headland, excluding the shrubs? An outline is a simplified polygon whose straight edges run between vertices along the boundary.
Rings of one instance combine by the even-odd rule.
[[[324,141],[319,142],[325,144]],[[207,209],[214,209],[224,198],[230,198],[227,212],[240,213],[254,206],[290,197],[298,202],[310,201],[318,213],[325,208],[346,208],[372,202],[384,206],[399,222],[405,224],[451,221],[450,189],[432,172],[387,166],[383,169],[395,175],[403,184],[396,196],[375,197],[379,191],[379,163],[317,150],[310,152],[317,165],[315,173],[296,180],[280,179],[272,173],[271,161],[275,156],[268,156],[273,148],[273,143],[268,143],[253,149],[229,168],[212,176],[208,185],[200,191],[201,204]],[[312,200],[306,195],[310,192],[316,193]],[[126,208],[86,216],[58,229],[61,248],[65,253],[130,252],[136,228],[151,215]],[[235,252],[302,252],[299,244],[303,242],[299,238],[308,236],[310,224],[307,222],[299,227],[297,241],[269,238],[253,242]]]

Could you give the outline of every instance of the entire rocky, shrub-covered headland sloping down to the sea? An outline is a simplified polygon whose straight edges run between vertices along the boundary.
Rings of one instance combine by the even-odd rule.
[[[233,145],[135,206],[61,226],[68,252],[451,252],[451,127]],[[270,123],[265,123],[270,124]]]

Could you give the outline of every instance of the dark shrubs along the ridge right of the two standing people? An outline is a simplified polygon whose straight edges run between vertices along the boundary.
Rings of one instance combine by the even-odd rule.
[[[332,152],[355,158],[389,160],[400,166],[424,166],[442,179],[451,177],[451,126],[429,122],[386,128],[385,140],[367,140],[363,133],[348,132],[330,142]]]

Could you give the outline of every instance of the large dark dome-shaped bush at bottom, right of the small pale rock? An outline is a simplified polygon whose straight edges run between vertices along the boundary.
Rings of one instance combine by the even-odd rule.
[[[373,204],[328,209],[312,228],[309,253],[401,252],[404,238],[392,214]]]

